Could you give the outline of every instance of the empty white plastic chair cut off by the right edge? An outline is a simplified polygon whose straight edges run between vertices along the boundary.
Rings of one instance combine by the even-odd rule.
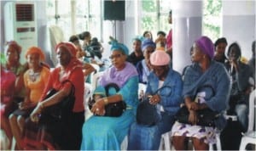
[[[239,150],[245,150],[248,143],[253,143],[256,145],[256,131],[253,131],[253,124],[255,122],[255,89],[250,93],[249,98],[249,114],[248,114],[248,130],[241,137],[241,144]]]

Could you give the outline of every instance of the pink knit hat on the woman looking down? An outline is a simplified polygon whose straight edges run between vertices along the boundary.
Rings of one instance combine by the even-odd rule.
[[[153,65],[167,65],[170,63],[170,56],[165,51],[154,51],[150,55],[150,63]]]

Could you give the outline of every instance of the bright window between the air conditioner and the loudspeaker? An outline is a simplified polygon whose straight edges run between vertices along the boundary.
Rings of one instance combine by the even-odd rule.
[[[92,36],[102,36],[102,0],[48,0],[47,25],[59,25],[65,39],[90,31]]]

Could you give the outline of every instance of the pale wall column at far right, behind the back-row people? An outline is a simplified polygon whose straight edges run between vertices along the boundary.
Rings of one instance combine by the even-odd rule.
[[[229,45],[237,42],[241,55],[250,59],[252,42],[256,39],[256,2],[249,0],[224,1],[222,35]],[[226,51],[228,48],[226,48]]]

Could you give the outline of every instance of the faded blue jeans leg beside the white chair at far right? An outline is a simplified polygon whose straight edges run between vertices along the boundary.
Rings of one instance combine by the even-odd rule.
[[[247,131],[248,128],[248,106],[247,104],[236,104],[235,109],[238,121],[241,123],[243,131]]]

